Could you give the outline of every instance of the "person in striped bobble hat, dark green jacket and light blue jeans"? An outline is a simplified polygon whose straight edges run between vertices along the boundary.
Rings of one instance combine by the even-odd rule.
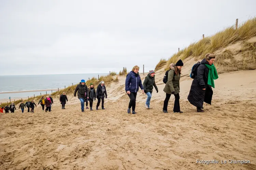
[[[149,73],[147,74],[147,76],[145,77],[145,80],[143,82],[143,88],[144,91],[147,95],[147,100],[145,103],[145,108],[146,109],[151,109],[152,107],[150,107],[150,100],[152,97],[152,92],[153,92],[153,86],[156,89],[156,92],[158,93],[158,88],[156,86],[156,82],[155,82],[155,71],[154,70],[150,70]]]

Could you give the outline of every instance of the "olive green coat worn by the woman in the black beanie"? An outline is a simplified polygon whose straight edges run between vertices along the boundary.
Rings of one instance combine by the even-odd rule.
[[[172,94],[172,91],[174,91],[174,94],[176,95],[176,94],[180,93],[181,75],[180,75],[180,73],[177,73],[174,77],[174,80],[173,80],[173,76],[174,76],[174,70],[171,69],[168,72],[168,80],[165,85],[165,89],[163,89],[163,91],[165,91],[167,94]]]

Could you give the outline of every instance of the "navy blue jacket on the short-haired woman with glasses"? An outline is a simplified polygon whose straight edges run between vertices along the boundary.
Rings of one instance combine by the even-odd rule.
[[[125,80],[125,91],[137,93],[139,91],[139,87],[141,90],[144,90],[140,75],[136,77],[133,71],[129,72]]]

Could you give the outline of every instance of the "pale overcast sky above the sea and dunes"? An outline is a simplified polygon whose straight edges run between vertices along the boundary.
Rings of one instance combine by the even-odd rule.
[[[0,0],[0,75],[154,69],[202,34],[256,15],[255,0]]]

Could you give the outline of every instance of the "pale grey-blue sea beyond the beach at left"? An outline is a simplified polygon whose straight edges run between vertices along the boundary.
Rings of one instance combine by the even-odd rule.
[[[108,75],[108,73],[90,74],[51,74],[51,75],[1,75],[0,92],[19,91],[18,93],[0,94],[1,99],[28,98],[45,94],[44,89],[64,88],[79,83],[82,79],[87,81],[89,78],[98,78],[98,75]],[[42,90],[24,92],[26,90]],[[47,91],[51,94],[52,91]],[[54,90],[53,90],[54,92]]]

